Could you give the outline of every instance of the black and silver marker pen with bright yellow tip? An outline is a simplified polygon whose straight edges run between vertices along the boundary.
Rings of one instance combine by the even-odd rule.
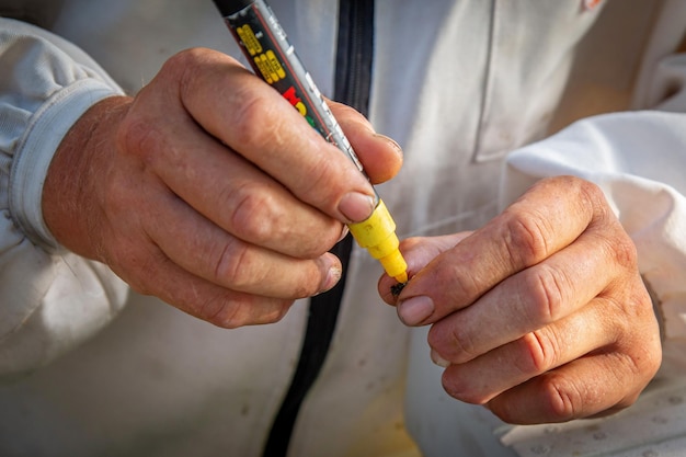
[[[276,89],[312,127],[345,152],[364,173],[350,141],[266,2],[264,0],[214,0],[214,2],[255,75]],[[381,263],[389,276],[399,283],[407,283],[408,264],[398,249],[396,222],[376,191],[375,201],[376,207],[371,216],[362,222],[348,224],[348,228],[357,243]]]

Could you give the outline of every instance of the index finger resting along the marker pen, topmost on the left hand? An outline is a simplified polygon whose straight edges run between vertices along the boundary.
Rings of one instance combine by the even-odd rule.
[[[277,91],[220,53],[180,57],[181,100],[210,135],[284,184],[299,199],[343,221],[366,219],[374,190]]]

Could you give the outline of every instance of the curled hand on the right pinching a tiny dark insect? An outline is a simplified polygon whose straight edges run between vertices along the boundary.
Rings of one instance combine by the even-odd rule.
[[[444,389],[511,423],[562,422],[636,401],[661,362],[636,248],[595,185],[542,180],[473,233],[405,240],[397,299],[433,324]]]

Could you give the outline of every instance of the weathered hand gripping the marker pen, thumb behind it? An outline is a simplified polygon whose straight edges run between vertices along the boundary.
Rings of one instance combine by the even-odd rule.
[[[373,182],[401,164],[358,113],[332,111]],[[172,57],[135,99],[73,126],[43,196],[56,239],[134,289],[220,327],[274,322],[331,288],[327,251],[373,190],[274,89],[208,49]]]

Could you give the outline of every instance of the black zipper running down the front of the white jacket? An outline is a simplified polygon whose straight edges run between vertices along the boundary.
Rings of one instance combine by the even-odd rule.
[[[369,112],[374,56],[374,0],[339,1],[333,99]],[[324,364],[347,278],[353,238],[348,233],[331,252],[341,259],[341,281],[329,292],[310,299],[309,316],[298,365],[267,436],[262,456],[285,457],[300,407]]]

